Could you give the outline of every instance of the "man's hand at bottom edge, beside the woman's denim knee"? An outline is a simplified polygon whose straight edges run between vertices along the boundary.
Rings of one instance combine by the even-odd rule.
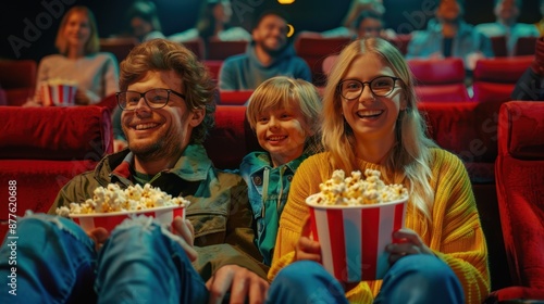
[[[210,291],[210,303],[222,303],[231,292],[230,303],[264,303],[269,282],[249,269],[238,265],[225,265],[206,282]]]

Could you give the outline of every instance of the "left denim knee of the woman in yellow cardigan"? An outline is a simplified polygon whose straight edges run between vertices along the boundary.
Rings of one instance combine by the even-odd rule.
[[[269,303],[347,303],[344,289],[321,264],[295,262],[282,269],[269,290]]]

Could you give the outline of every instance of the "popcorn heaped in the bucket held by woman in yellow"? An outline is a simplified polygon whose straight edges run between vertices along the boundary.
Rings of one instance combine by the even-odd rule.
[[[359,170],[346,177],[344,170],[333,172],[331,179],[322,182],[321,192],[310,197],[310,203],[324,205],[380,204],[408,198],[403,185],[385,185],[379,170],[367,169],[364,177]]]

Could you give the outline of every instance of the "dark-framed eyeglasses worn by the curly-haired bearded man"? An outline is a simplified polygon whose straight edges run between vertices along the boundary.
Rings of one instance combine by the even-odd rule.
[[[164,107],[170,101],[170,93],[173,93],[185,100],[184,94],[171,89],[151,89],[143,93],[136,91],[123,91],[115,93],[115,97],[118,98],[118,104],[121,110],[134,111],[138,106],[139,100],[141,98],[144,98],[147,106],[151,109]]]

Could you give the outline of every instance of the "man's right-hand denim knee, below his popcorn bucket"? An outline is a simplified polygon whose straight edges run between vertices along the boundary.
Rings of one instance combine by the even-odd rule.
[[[205,282],[176,238],[150,217],[118,226],[99,254],[95,283],[99,303],[207,300]]]

